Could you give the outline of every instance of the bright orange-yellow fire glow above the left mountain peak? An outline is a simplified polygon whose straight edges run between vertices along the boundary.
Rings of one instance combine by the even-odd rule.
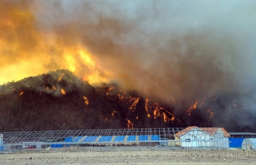
[[[2,13],[5,13],[0,16],[0,52],[2,61],[5,61],[1,66],[0,84],[62,68],[90,83],[108,81],[109,72],[84,46],[80,36],[75,34],[78,32],[69,29],[71,33],[62,35],[53,29],[40,27],[40,21],[26,3],[6,1],[0,4]],[[75,40],[74,37],[76,42],[69,42]]]

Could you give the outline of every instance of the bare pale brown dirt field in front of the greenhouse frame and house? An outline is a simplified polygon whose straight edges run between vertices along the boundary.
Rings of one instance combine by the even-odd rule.
[[[256,151],[166,150],[0,154],[0,165],[256,165]]]

